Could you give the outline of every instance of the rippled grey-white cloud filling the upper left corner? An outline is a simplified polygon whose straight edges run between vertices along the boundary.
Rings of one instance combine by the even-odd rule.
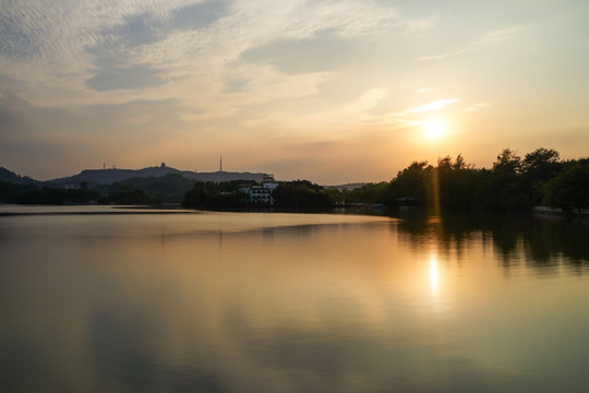
[[[140,75],[123,88],[156,86],[153,75],[168,73],[170,63],[153,64],[145,48],[180,29],[206,27],[228,10],[225,1],[9,2],[0,12],[0,69],[29,90],[67,85],[71,95],[84,94],[84,87],[112,90],[127,70]],[[171,48],[187,49],[179,43]]]

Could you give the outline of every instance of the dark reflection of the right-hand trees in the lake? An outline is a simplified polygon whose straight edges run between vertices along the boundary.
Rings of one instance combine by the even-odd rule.
[[[446,213],[432,221],[421,212],[398,216],[398,235],[413,247],[435,238],[438,252],[455,252],[460,259],[470,241],[492,241],[505,267],[516,263],[522,252],[525,263],[545,267],[560,264],[558,257],[573,263],[589,262],[589,221],[558,216]]]

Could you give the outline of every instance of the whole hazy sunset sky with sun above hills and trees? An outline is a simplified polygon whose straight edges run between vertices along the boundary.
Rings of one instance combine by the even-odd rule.
[[[589,153],[587,0],[0,0],[0,166],[321,184]]]

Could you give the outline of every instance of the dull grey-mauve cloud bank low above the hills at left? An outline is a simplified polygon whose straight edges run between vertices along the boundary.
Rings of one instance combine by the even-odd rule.
[[[4,166],[20,166],[20,172],[36,178],[93,167],[105,159],[123,164],[122,157],[144,157],[146,152],[155,153],[149,157],[154,158],[163,151],[163,141],[179,140],[177,132],[184,124],[180,112],[189,109],[177,100],[64,109],[32,105],[4,93],[0,95],[0,157]],[[40,160],[51,165],[40,166]]]

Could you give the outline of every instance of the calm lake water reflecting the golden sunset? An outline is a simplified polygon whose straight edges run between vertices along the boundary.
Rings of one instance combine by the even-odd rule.
[[[146,213],[0,206],[1,392],[589,389],[586,222]]]

